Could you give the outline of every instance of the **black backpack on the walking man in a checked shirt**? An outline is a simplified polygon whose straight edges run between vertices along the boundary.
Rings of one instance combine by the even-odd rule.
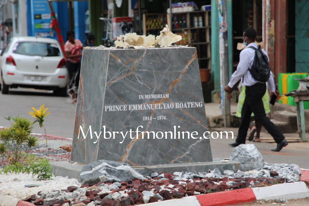
[[[248,47],[255,50],[254,60],[251,69],[249,69],[252,77],[259,82],[267,82],[270,76],[270,68],[268,58],[263,53],[261,46]]]

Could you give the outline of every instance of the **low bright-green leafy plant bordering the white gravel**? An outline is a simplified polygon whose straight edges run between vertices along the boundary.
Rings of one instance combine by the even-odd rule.
[[[37,179],[51,179],[51,166],[48,159],[37,158],[35,155],[28,155],[24,163],[6,165],[2,169],[4,174],[9,173],[32,173],[32,177],[37,174]],[[0,174],[2,174],[0,170]]]

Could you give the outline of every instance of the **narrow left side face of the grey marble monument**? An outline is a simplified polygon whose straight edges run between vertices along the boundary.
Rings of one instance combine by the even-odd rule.
[[[91,163],[97,159],[98,142],[93,143],[97,138],[92,133],[91,139],[89,131],[84,139],[80,125],[85,135],[90,125],[92,132],[100,131],[108,58],[109,52],[106,50],[83,51],[71,151],[71,160],[75,162]]]

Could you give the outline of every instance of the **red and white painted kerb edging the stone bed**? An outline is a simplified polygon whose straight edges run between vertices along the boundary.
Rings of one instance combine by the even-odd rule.
[[[309,197],[309,170],[302,169],[301,182],[283,183],[268,187],[250,187],[244,189],[213,192],[204,195],[183,197],[142,204],[143,206],[225,206],[248,203],[255,200],[290,200]],[[6,195],[9,196],[9,195]],[[10,196],[11,197],[11,196]],[[12,197],[11,197],[12,198]],[[1,203],[1,200],[0,200]],[[1,204],[0,204],[1,205]],[[8,206],[16,206],[8,205]],[[34,204],[19,201],[17,206],[34,206]]]

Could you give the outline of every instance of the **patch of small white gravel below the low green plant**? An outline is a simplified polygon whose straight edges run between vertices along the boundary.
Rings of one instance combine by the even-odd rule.
[[[15,179],[16,178],[16,179]],[[81,183],[77,179],[69,179],[68,177],[53,176],[51,180],[36,180],[36,176],[32,178],[32,174],[0,174],[0,193],[12,195],[13,197],[24,198],[29,195],[37,194],[43,189],[51,192],[55,190],[64,190],[69,186],[80,187]],[[25,187],[29,184],[42,184],[39,187]]]

